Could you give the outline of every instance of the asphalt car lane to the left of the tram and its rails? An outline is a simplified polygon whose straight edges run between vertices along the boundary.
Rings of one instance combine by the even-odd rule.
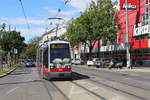
[[[0,100],[48,100],[49,95],[36,68],[16,69],[0,79]]]

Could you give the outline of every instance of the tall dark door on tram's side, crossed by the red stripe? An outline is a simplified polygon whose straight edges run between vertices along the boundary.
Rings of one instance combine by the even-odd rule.
[[[43,48],[43,77],[48,78],[48,47]]]

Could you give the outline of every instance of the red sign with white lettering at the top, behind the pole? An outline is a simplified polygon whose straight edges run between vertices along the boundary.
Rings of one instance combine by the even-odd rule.
[[[137,9],[137,0],[128,0],[126,4],[126,0],[120,0],[120,9],[125,10],[128,7],[129,10],[136,10]]]

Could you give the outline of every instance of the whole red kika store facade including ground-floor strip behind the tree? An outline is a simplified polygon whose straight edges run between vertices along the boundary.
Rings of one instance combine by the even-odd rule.
[[[93,49],[94,57],[98,54],[98,57],[126,59],[126,48],[129,46],[131,61],[134,59],[140,64],[149,66],[150,0],[128,0],[127,5],[126,0],[116,0],[114,4],[116,8],[114,16],[118,19],[120,24],[116,38],[117,43],[103,45],[103,41],[99,41]],[[126,7],[128,7],[129,41],[126,41]],[[78,53],[81,55],[87,54],[89,50],[85,48],[81,45],[78,49]]]

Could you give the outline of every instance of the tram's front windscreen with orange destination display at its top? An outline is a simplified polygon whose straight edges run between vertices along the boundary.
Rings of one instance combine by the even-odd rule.
[[[53,63],[55,60],[64,59],[70,60],[70,49],[69,44],[52,44],[50,47],[50,63]]]

